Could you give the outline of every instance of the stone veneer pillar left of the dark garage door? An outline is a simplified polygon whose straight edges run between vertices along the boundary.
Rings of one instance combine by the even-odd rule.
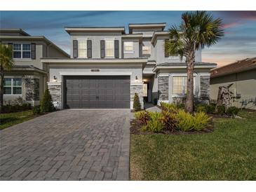
[[[53,105],[57,109],[62,109],[61,83],[48,83],[48,89],[53,99]]]

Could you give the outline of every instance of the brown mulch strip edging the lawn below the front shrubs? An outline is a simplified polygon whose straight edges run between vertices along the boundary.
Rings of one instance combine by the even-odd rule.
[[[141,130],[141,123],[138,120],[133,119],[130,121],[130,134],[132,135],[191,135],[191,134],[202,134],[207,132],[213,132],[213,121],[211,121],[210,126],[204,130],[200,131],[188,131],[183,132],[181,130],[163,130],[162,132],[149,132]]]

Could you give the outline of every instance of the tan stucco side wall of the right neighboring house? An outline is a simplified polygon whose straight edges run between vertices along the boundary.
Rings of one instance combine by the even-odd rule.
[[[210,99],[217,100],[217,92],[221,85],[229,85],[234,83],[230,90],[241,94],[241,99],[236,99],[233,105],[241,107],[242,100],[256,99],[256,69],[250,71],[243,71],[237,74],[230,74],[227,76],[220,76],[210,79]],[[256,109],[252,103],[248,104],[246,108]]]

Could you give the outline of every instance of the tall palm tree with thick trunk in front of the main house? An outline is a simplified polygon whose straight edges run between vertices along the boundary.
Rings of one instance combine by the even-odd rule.
[[[210,47],[224,36],[222,20],[214,19],[206,11],[186,12],[182,14],[182,23],[179,27],[169,29],[170,40],[165,42],[166,53],[180,55],[186,58],[187,63],[187,99],[185,110],[194,109],[194,66],[196,50]]]

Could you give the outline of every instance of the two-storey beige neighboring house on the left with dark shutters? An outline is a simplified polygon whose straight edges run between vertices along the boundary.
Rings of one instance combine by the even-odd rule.
[[[4,104],[22,97],[38,105],[48,81],[48,69],[41,57],[69,55],[44,36],[30,36],[22,29],[0,29],[0,42],[12,46],[14,61],[13,69],[5,71]]]

